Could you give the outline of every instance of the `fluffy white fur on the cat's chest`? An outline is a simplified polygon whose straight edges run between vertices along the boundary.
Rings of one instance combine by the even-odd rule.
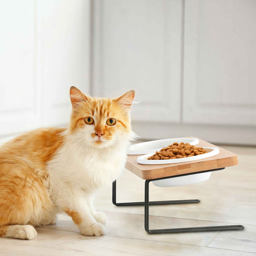
[[[82,151],[63,145],[47,166],[53,199],[58,196],[58,191],[65,190],[65,186],[91,193],[111,185],[124,169],[127,145],[128,142],[118,147],[90,147]]]

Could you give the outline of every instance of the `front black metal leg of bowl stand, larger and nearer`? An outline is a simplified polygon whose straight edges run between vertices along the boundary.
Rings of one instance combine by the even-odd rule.
[[[151,180],[145,180],[145,230],[149,234],[163,233],[181,233],[181,232],[203,232],[220,230],[244,229],[243,225],[225,225],[210,227],[191,227],[191,228],[171,228],[171,229],[149,229],[149,183]]]

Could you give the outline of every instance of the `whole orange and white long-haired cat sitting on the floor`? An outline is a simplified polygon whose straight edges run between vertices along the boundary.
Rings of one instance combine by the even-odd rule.
[[[34,227],[55,224],[63,211],[83,235],[104,235],[93,193],[124,169],[134,96],[94,98],[72,86],[66,129],[37,129],[0,147],[0,237],[33,239]]]

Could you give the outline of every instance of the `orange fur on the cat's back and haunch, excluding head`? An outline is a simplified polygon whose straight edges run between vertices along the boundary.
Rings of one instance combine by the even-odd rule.
[[[63,143],[63,131],[37,129],[0,148],[0,226],[38,225],[40,219],[51,214],[45,168]]]

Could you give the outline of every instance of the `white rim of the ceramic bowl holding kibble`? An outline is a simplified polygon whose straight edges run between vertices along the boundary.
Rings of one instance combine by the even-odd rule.
[[[210,156],[215,156],[219,154],[218,147],[204,147],[207,153],[197,155],[197,156],[189,156],[184,158],[176,158],[176,159],[166,159],[166,160],[147,160],[148,157],[155,154],[155,151],[151,151],[150,154],[142,155],[137,157],[137,163],[139,164],[176,164],[176,163],[183,163],[183,162],[190,162],[199,159],[204,159]],[[159,151],[158,149],[157,151]]]

